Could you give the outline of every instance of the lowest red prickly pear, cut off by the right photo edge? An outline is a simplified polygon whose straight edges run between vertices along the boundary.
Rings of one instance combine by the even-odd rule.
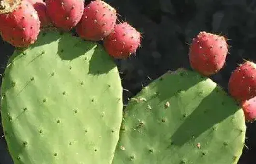
[[[241,104],[245,116],[245,121],[254,121],[256,119],[256,97],[243,101]]]

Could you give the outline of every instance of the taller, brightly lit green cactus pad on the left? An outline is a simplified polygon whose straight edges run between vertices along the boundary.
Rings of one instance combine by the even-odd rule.
[[[40,34],[5,70],[1,115],[15,164],[111,164],[122,109],[114,61],[71,34]]]

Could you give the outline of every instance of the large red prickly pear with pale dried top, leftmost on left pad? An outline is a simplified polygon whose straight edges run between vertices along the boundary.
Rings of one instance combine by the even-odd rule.
[[[40,32],[38,14],[27,0],[2,0],[0,22],[3,40],[14,47],[28,47]]]

